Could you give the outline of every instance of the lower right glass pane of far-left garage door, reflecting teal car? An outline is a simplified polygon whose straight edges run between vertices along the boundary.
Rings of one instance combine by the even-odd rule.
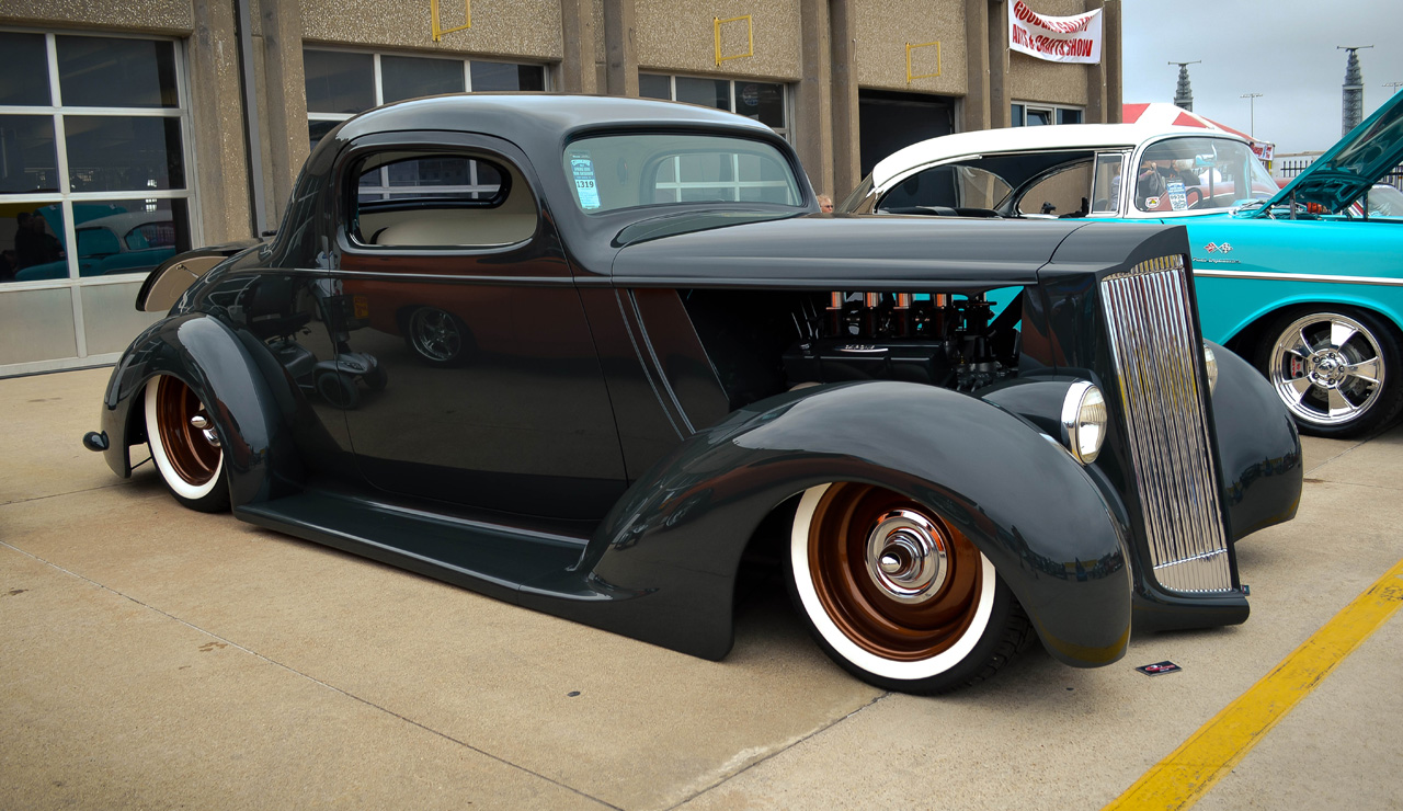
[[[145,274],[189,250],[182,199],[123,199],[73,203],[79,275]]]

